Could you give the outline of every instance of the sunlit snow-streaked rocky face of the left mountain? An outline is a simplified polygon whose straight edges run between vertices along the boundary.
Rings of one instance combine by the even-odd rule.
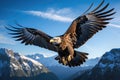
[[[13,56],[11,56],[13,58]],[[19,54],[15,54],[15,57],[14,59],[16,60],[19,60],[21,59],[22,60],[22,63],[20,63],[20,65],[16,65],[15,63],[12,63],[11,62],[11,66],[17,70],[17,69],[23,69],[23,70],[32,70],[32,71],[35,71],[35,70],[38,70],[37,67],[39,67],[39,69],[42,69],[42,64],[40,64],[39,62],[35,61],[35,60],[32,60],[30,58],[27,58],[23,55],[19,55]]]

